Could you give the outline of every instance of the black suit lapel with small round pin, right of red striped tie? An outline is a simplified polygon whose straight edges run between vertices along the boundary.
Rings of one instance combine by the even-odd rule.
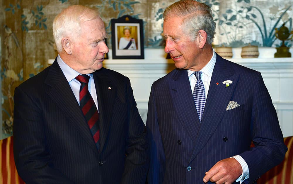
[[[108,136],[113,104],[117,93],[115,84],[111,82],[105,70],[105,68],[102,68],[93,73],[99,107],[100,152],[102,152]]]

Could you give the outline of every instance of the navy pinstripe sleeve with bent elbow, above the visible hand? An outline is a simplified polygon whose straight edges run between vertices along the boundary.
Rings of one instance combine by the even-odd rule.
[[[251,112],[251,132],[255,147],[240,154],[249,168],[249,183],[280,164],[287,151],[275,107],[260,72],[251,81],[251,85],[255,89]]]

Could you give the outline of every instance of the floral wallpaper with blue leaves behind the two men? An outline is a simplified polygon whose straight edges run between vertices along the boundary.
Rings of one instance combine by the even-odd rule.
[[[275,28],[285,23],[292,30],[293,0],[199,0],[213,10],[217,23],[215,46],[275,47],[281,41]],[[1,105],[0,138],[13,134],[14,88],[38,74],[54,59],[52,22],[63,8],[72,4],[98,8],[111,33],[111,19],[131,15],[143,20],[144,47],[163,48],[163,11],[171,0],[0,0]],[[110,34],[111,35],[111,34]],[[111,48],[111,38],[107,44]],[[287,46],[292,41],[286,41]],[[4,135],[1,137],[1,134]]]

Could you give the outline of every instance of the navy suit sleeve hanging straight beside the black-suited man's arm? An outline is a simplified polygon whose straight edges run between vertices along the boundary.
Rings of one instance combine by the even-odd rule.
[[[156,104],[154,100],[154,84],[151,88],[147,113],[148,142],[150,144],[150,167],[147,181],[149,184],[163,183],[165,173],[165,153],[159,130]]]

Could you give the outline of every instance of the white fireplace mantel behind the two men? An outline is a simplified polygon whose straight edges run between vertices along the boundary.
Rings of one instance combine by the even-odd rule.
[[[241,48],[233,48],[233,57],[228,60],[260,71],[277,110],[283,135],[293,135],[293,58],[274,58],[275,48],[259,48],[258,58],[241,58]],[[293,48],[290,49],[293,55]],[[103,66],[130,78],[139,113],[147,119],[147,105],[151,85],[174,69],[171,59],[166,59],[164,49],[144,49],[145,59],[109,59]],[[52,62],[50,60],[49,62]]]

